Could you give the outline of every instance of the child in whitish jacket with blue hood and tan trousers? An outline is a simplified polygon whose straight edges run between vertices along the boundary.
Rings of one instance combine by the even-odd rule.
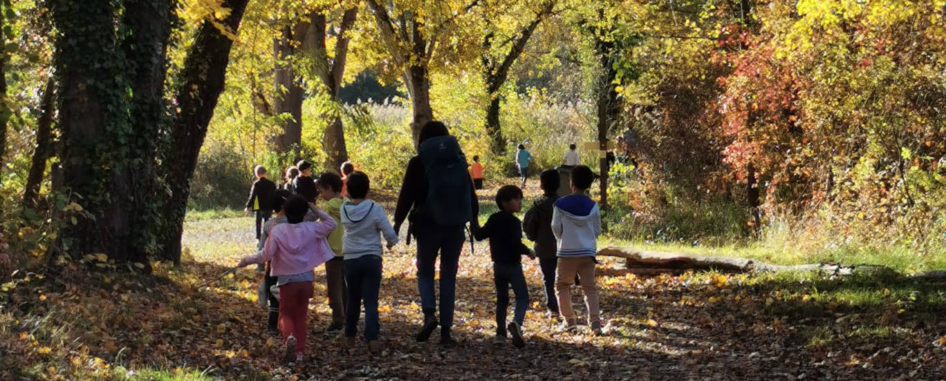
[[[577,328],[575,311],[571,307],[569,287],[575,274],[585,291],[588,310],[588,325],[600,335],[601,322],[598,309],[598,285],[595,283],[595,256],[598,253],[598,236],[601,235],[601,211],[585,193],[594,181],[591,169],[579,165],[571,170],[572,194],[555,201],[552,211],[552,234],[558,241],[558,269],[555,274],[555,293],[558,308],[565,318],[565,330]]]

